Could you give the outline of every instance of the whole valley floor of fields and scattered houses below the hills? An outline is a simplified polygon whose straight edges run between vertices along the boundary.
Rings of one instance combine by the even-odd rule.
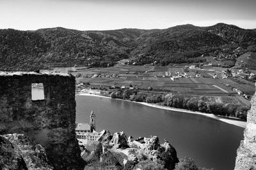
[[[214,67],[211,64],[174,66],[72,67],[77,93],[92,90],[136,89],[148,94],[184,94],[209,96],[216,101],[234,101],[250,105],[254,94],[255,71]],[[70,69],[69,69],[70,70]],[[56,69],[60,71],[60,68]],[[66,71],[68,71],[66,69]]]

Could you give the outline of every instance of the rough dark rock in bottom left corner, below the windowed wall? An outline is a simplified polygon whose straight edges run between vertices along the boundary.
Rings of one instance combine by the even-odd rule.
[[[24,134],[0,136],[0,169],[45,169],[53,167],[45,149]]]

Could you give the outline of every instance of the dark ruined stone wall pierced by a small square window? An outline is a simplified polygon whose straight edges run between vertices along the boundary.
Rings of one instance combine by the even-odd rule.
[[[44,84],[44,100],[31,100],[31,83]],[[0,73],[0,134],[34,139],[44,146],[55,169],[82,169],[75,88],[70,74]]]

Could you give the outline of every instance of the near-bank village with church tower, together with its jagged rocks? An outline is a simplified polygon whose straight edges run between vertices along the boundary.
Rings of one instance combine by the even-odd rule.
[[[171,150],[175,149],[166,139],[164,139],[163,144],[160,144],[157,136],[134,139],[132,136],[127,137],[124,132],[115,132],[114,134],[106,130],[97,132],[95,117],[96,115],[92,111],[90,113],[90,124],[76,124],[76,138],[81,149],[81,157],[86,162],[92,162],[93,155],[100,154],[99,162],[104,167],[97,166],[97,169],[122,169],[127,162],[141,161],[141,156],[157,161],[157,159],[161,158],[160,155],[163,152],[173,156],[173,159],[176,159],[174,161],[177,162],[176,153],[173,155],[171,152]],[[97,153],[99,148],[102,152]],[[107,154],[108,157],[104,157],[104,154]],[[115,155],[115,159],[118,157],[117,160],[113,160],[113,157],[109,156],[109,154]],[[91,166],[89,163],[85,168]]]

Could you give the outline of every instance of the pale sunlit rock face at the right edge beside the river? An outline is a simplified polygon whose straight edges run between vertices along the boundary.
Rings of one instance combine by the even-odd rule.
[[[236,170],[256,169],[256,94],[252,101],[252,108],[248,111],[244,140],[237,149]]]

